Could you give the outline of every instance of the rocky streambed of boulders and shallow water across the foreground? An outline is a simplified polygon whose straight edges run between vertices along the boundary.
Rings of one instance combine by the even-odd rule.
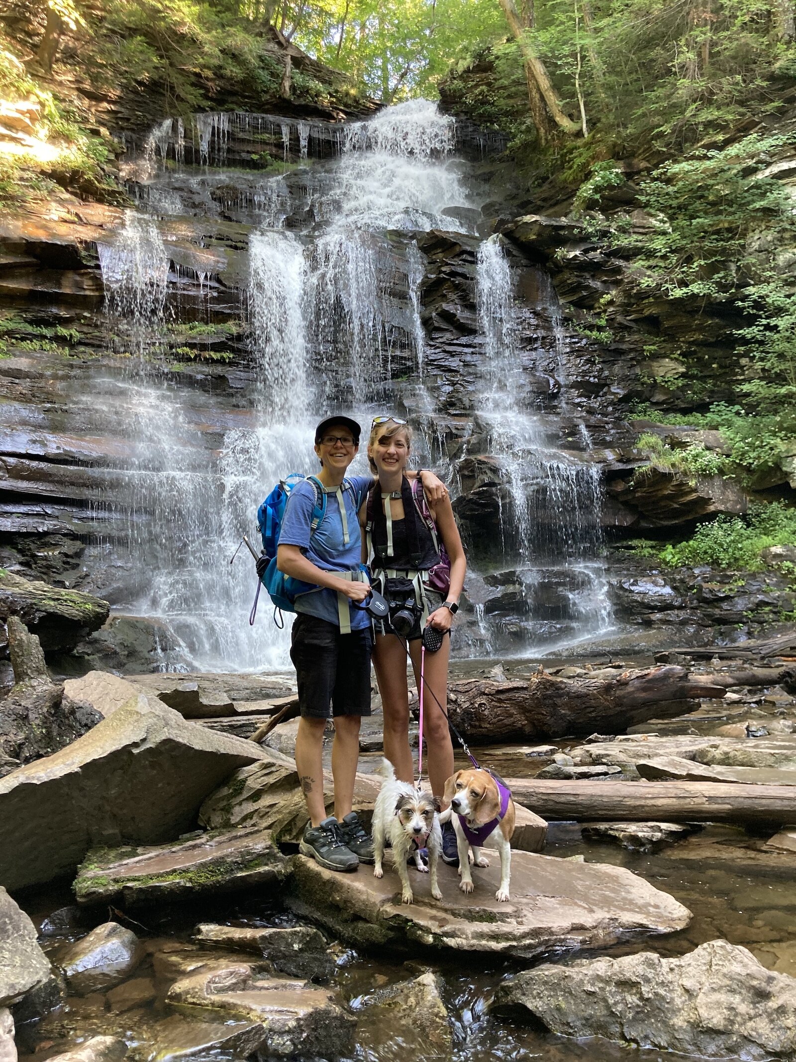
[[[443,902],[412,871],[408,907],[388,867],[377,880],[297,855],[287,676],[281,689],[219,673],[60,684],[35,636],[10,632],[15,703],[35,712],[47,681],[93,719],[0,778],[4,1058],[793,1056],[786,661],[690,663],[712,696],[660,719],[653,704],[629,733],[479,746],[518,802],[512,900],[495,901],[495,866],[474,870],[467,897],[445,867]],[[589,683],[678,670],[633,663],[561,663],[544,682],[576,699]],[[473,663],[452,685],[516,698],[524,684],[533,716],[539,678]],[[262,744],[238,733],[269,720]],[[366,818],[378,705],[362,748]],[[669,787],[673,821],[651,816]],[[565,798],[575,811],[555,813]],[[611,801],[623,817],[600,811]]]

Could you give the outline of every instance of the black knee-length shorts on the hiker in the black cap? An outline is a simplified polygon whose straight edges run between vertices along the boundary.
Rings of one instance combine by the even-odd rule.
[[[341,634],[336,623],[299,612],[293,622],[290,658],[298,679],[302,716],[370,715],[370,628]]]

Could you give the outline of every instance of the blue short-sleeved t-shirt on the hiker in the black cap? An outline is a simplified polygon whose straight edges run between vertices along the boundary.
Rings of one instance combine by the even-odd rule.
[[[326,489],[326,515],[315,532],[310,534],[312,510],[315,508],[315,491],[312,483],[297,483],[291,491],[284,509],[282,527],[279,532],[280,546],[299,546],[308,561],[312,561],[325,571],[354,571],[362,563],[362,535],[360,534],[357,499],[361,502],[373,484],[371,476],[349,476],[351,491],[341,487],[348,520],[348,544],[343,541],[343,521],[340,518],[336,487]],[[317,484],[315,484],[317,486]],[[340,626],[338,595],[335,590],[323,587],[299,594],[296,612],[326,619]],[[357,609],[349,602],[351,630],[361,631],[370,624],[370,617],[364,609]]]

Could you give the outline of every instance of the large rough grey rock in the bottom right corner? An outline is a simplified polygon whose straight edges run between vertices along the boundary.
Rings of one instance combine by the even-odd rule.
[[[498,1011],[553,1032],[707,1058],[763,1060],[796,1049],[796,979],[724,940],[680,959],[652,953],[543,965],[500,987]]]

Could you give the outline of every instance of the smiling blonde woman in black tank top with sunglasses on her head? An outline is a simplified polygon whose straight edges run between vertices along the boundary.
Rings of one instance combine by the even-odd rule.
[[[379,477],[368,500],[360,510],[360,523],[368,530],[370,556],[366,558],[375,576],[394,572],[412,579],[415,586],[439,563],[439,552],[433,535],[420,518],[412,490],[404,476],[409,463],[412,429],[397,421],[381,421],[370,431],[367,456],[373,473]],[[450,499],[435,501],[431,510],[439,542],[450,558],[450,589],[445,598],[433,590],[423,590],[428,609],[425,622],[443,633],[450,631],[453,615],[464,586],[467,560],[462,547]],[[365,541],[363,535],[363,541]],[[451,609],[453,606],[453,609]],[[415,678],[420,678],[420,636],[423,622],[418,621],[409,639],[388,633],[387,627],[377,630],[373,652],[384,713],[384,755],[402,782],[414,782],[413,750],[409,742],[409,689],[406,684],[406,646],[412,656]],[[426,689],[434,695],[423,701],[425,737],[428,749],[428,772],[432,791],[443,800],[445,783],[453,774],[453,747],[443,712],[434,698],[447,710],[448,661],[450,638],[435,653],[426,653]],[[445,806],[445,805],[443,805]],[[447,824],[450,825],[450,824]],[[446,862],[457,861],[455,834],[444,832]],[[446,852],[447,850],[447,852]]]

